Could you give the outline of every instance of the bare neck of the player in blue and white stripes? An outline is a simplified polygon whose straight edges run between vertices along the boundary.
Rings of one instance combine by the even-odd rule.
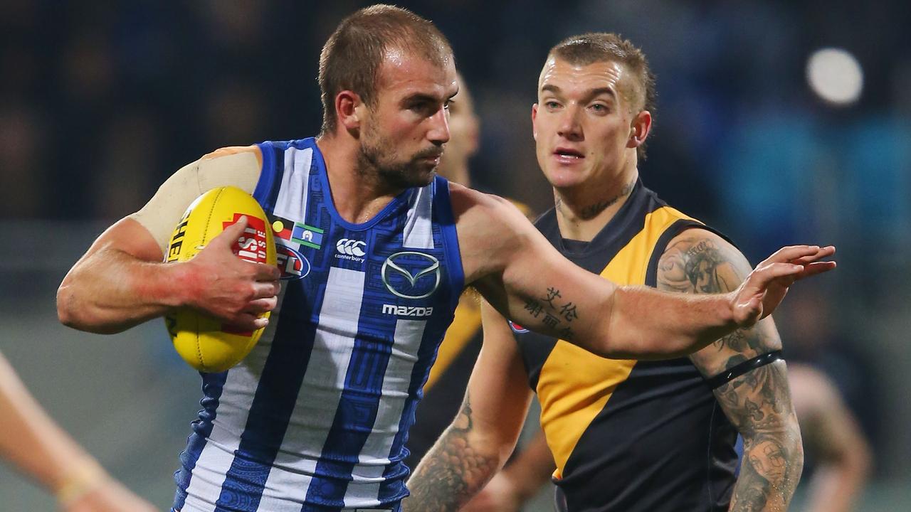
[[[402,192],[385,182],[377,169],[359,161],[360,146],[355,141],[322,135],[316,146],[326,162],[333,205],[344,220],[353,224],[371,220]]]

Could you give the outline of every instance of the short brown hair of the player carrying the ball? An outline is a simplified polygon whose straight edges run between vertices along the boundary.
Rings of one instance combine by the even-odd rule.
[[[371,5],[344,18],[320,53],[323,134],[335,130],[335,96],[343,90],[375,105],[379,70],[391,48],[415,52],[439,66],[452,55],[439,29],[407,9]]]

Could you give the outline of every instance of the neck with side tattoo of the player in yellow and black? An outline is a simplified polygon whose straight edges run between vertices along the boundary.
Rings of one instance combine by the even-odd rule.
[[[603,187],[554,189],[560,235],[578,241],[594,239],[629,199],[638,178],[635,171]]]

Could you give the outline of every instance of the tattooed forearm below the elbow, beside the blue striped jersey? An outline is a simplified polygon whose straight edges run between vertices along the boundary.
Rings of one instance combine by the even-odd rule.
[[[403,512],[458,510],[496,473],[496,452],[486,453],[471,443],[474,423],[466,394],[462,410],[408,480],[411,497]]]

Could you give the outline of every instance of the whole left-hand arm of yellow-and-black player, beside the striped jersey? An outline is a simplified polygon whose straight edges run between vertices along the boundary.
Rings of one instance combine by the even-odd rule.
[[[489,304],[482,304],[484,344],[462,409],[408,480],[403,512],[455,511],[483,488],[516,446],[531,402],[516,341]]]

